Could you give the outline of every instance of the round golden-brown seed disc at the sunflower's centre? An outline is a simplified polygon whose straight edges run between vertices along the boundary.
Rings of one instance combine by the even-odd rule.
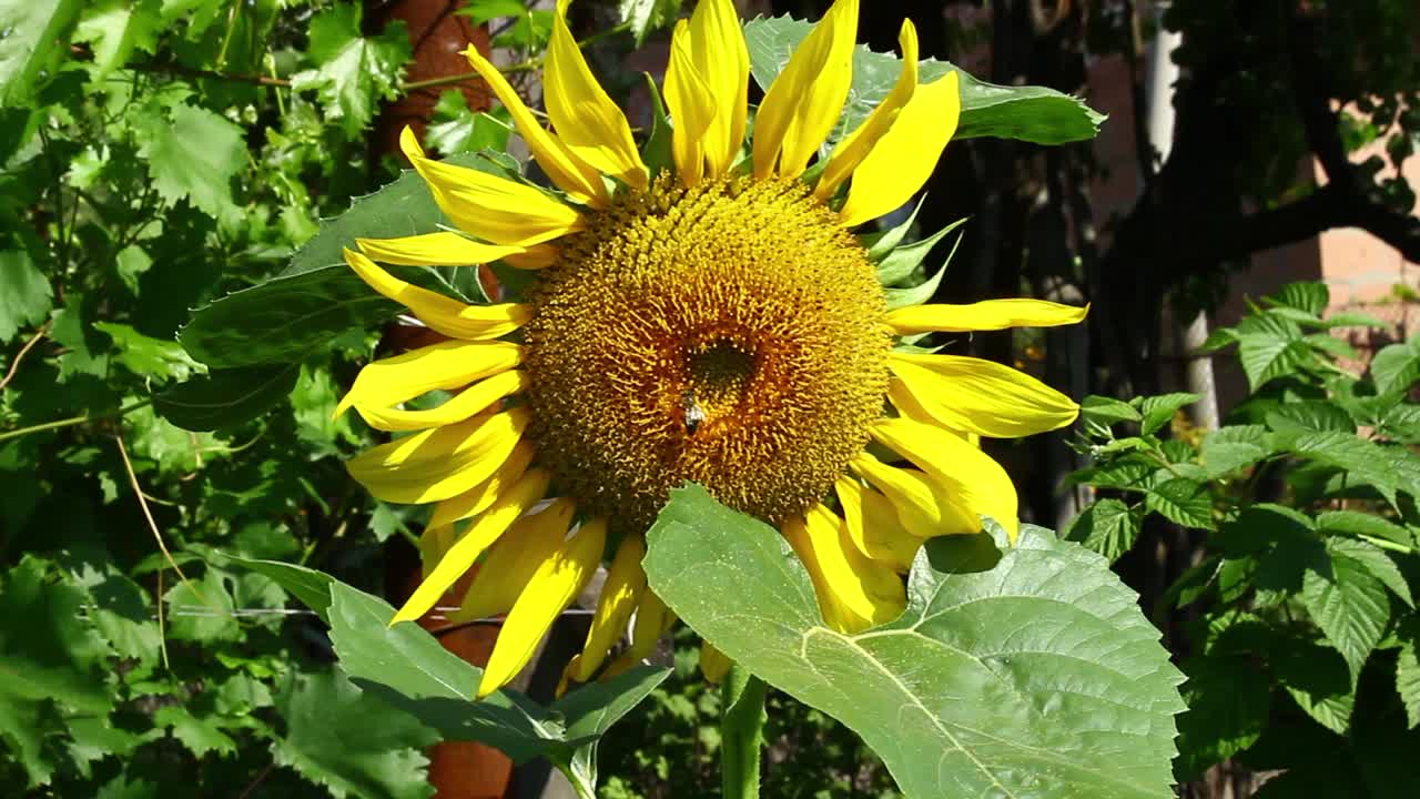
[[[882,290],[799,181],[663,178],[564,239],[528,301],[540,456],[626,529],[686,481],[777,525],[882,415]]]

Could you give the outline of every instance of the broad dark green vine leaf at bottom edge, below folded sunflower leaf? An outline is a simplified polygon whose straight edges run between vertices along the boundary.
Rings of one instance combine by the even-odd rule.
[[[390,712],[335,670],[295,675],[277,699],[287,734],[275,762],[344,799],[425,799],[433,786],[422,748],[439,739],[405,714]]]

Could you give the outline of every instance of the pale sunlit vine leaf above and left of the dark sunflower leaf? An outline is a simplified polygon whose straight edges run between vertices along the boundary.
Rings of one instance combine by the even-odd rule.
[[[178,104],[136,117],[138,155],[148,162],[153,189],[169,203],[187,199],[212,218],[236,213],[231,178],[247,163],[241,128],[226,118]]]

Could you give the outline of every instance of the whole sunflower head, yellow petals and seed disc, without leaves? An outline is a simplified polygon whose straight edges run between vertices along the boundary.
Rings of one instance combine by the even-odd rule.
[[[1014,535],[1015,489],[977,436],[1078,414],[1015,370],[900,341],[1076,323],[1083,309],[889,310],[851,233],[922,188],[957,125],[957,75],[919,82],[910,23],[892,91],[819,156],[852,81],[858,0],[838,0],[798,45],[753,135],[734,6],[701,0],[673,31],[670,158],[653,175],[565,10],[561,0],[547,51],[551,129],[467,51],[555,189],[433,161],[406,129],[405,155],[457,229],[345,252],[375,291],[447,337],[366,365],[338,412],[409,434],[355,456],[356,481],[386,502],[433,505],[425,579],[395,621],[427,613],[480,563],[453,614],[506,614],[480,697],[527,664],[608,554],[564,684],[650,651],[674,616],[646,587],[645,533],[686,481],[777,526],[825,621],[856,631],[902,611],[900,574],[924,539],[977,532],[983,516]],[[518,303],[469,306],[375,262],[503,262],[532,270],[531,286]],[[436,391],[450,394],[412,402]],[[606,663],[628,624],[630,647]],[[726,661],[706,648],[703,667],[714,678]]]

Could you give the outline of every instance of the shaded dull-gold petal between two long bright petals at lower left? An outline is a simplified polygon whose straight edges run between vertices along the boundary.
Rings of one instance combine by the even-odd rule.
[[[463,603],[449,620],[471,621],[507,613],[538,566],[562,547],[574,510],[571,499],[554,499],[542,510],[514,522],[488,549]]]

